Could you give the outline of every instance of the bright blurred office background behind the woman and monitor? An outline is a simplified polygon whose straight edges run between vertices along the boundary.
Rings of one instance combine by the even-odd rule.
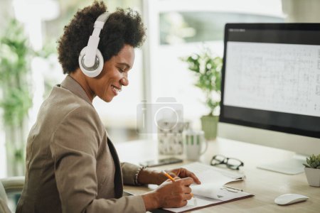
[[[0,1],[0,178],[24,175],[26,137],[53,85],[64,79],[56,42],[85,0]],[[129,86],[111,103],[94,106],[113,143],[139,134],[137,106],[175,97],[184,119],[199,129],[209,111],[195,76],[181,58],[203,48],[223,56],[225,23],[319,22],[317,0],[109,0],[108,10],[130,7],[147,28],[143,48],[129,75]],[[138,129],[138,131],[137,131]]]

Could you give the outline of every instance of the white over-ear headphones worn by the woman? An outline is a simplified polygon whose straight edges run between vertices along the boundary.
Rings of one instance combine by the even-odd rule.
[[[100,40],[100,31],[105,25],[110,13],[102,13],[95,21],[92,35],[79,55],[80,70],[88,77],[97,77],[102,71],[104,60],[100,50],[97,48]]]

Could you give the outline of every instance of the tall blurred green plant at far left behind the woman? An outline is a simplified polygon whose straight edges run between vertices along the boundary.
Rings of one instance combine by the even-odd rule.
[[[32,105],[28,73],[31,48],[16,20],[0,38],[0,107],[6,133],[8,175],[24,175],[26,117]]]

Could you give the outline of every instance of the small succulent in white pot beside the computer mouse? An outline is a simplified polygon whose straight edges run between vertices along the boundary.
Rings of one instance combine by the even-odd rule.
[[[306,158],[306,164],[304,163],[304,165],[306,166],[304,172],[309,185],[320,187],[320,154]]]

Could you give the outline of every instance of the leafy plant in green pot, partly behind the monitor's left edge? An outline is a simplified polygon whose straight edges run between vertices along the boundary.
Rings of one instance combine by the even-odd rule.
[[[191,70],[198,80],[195,86],[200,88],[206,97],[206,106],[209,113],[201,116],[201,126],[205,138],[213,140],[217,136],[218,120],[220,114],[220,85],[221,68],[223,60],[213,55],[210,49],[204,48],[201,53],[182,58],[188,63],[188,70]]]

